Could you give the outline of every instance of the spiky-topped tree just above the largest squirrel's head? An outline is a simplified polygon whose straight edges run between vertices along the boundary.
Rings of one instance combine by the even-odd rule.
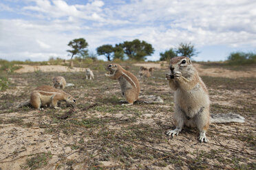
[[[194,46],[191,45],[191,42],[189,42],[189,43],[180,43],[180,46],[176,50],[176,53],[178,56],[186,56],[191,58],[192,56],[196,56],[198,54],[198,51],[196,51]]]

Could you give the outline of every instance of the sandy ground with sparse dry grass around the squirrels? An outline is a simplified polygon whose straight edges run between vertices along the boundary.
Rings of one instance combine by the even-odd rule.
[[[104,68],[105,63],[100,64]],[[202,77],[210,95],[236,104],[225,106],[213,97],[211,112],[237,112],[246,117],[244,124],[211,125],[207,133],[211,143],[206,144],[199,143],[197,130],[189,128],[173,139],[165,136],[173,127],[173,92],[164,80],[166,70],[157,69],[154,78],[140,80],[141,94],[159,95],[164,104],[120,106],[118,82],[104,77],[104,69],[97,69],[95,63],[90,67],[94,81],[85,80],[82,72],[9,75],[11,84],[0,93],[1,169],[256,168],[255,77]],[[137,75],[138,67],[131,66],[131,72]],[[38,111],[12,107],[27,100],[32,88],[51,84],[56,75],[75,84],[65,91],[76,97],[76,108],[62,105],[62,110]],[[224,90],[242,93],[235,98]],[[41,154],[29,156],[36,153]]]

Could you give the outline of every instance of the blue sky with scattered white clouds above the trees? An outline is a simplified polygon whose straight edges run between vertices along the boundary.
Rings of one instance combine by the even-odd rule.
[[[233,51],[256,52],[255,9],[254,0],[1,0],[0,58],[70,58],[74,38],[85,38],[90,53],[138,38],[155,49],[148,60],[180,42],[200,51],[194,60],[226,60]]]

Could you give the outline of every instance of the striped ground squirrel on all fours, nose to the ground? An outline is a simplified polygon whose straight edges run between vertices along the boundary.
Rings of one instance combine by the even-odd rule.
[[[52,86],[39,86],[30,93],[30,100],[19,104],[17,108],[31,105],[33,108],[41,110],[41,106],[51,106],[60,109],[57,105],[60,101],[66,101],[67,106],[74,106],[76,99],[65,91],[53,88]]]

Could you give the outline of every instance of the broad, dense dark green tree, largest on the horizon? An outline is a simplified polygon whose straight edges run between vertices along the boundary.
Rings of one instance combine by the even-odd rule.
[[[116,47],[122,47],[124,53],[132,60],[145,60],[145,56],[151,56],[154,51],[151,44],[138,39],[125,41],[116,45]]]

